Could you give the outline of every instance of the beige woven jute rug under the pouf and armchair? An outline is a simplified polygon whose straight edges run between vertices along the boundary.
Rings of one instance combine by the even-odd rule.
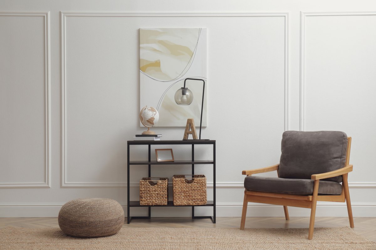
[[[302,228],[122,228],[103,238],[74,238],[59,228],[0,229],[0,249],[240,250],[322,249],[375,250],[376,243],[349,228],[315,228],[313,240]]]

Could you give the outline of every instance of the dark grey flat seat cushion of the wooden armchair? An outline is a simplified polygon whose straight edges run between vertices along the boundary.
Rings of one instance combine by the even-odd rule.
[[[285,179],[278,177],[247,176],[244,187],[250,191],[312,195],[314,180]],[[334,181],[319,181],[319,195],[340,195],[342,185]]]

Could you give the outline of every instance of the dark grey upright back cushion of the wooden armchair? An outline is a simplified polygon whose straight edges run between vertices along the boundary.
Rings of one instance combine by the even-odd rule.
[[[313,174],[345,166],[347,135],[340,131],[285,131],[281,151],[280,178],[311,179]],[[324,180],[342,182],[342,176]]]

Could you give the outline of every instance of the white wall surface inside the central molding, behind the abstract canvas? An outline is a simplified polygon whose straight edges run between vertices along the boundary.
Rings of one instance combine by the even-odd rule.
[[[217,155],[220,162],[217,173],[221,173],[217,181],[226,182],[231,177],[237,180],[242,166],[249,164],[247,157],[239,156],[249,152],[254,152],[251,159],[254,165],[274,164],[279,160],[280,136],[287,117],[284,106],[287,85],[286,15],[219,14],[212,18],[205,15],[161,15],[155,19],[121,13],[67,12],[63,13],[62,18],[65,20],[63,119],[66,123],[63,186],[124,185],[125,140],[132,139],[139,133],[138,130],[143,130],[130,126],[137,122],[139,112],[136,103],[130,105],[131,99],[138,98],[135,93],[139,91],[138,29],[150,27],[151,23],[153,27],[173,24],[174,27],[206,27],[209,30],[208,64],[211,67],[208,73],[211,84],[206,88],[210,100],[208,109],[211,110],[209,123],[214,126],[221,124],[221,129],[225,130],[232,127],[234,122],[242,124],[236,128],[240,137],[234,138],[234,133],[223,133],[219,138],[219,141],[235,139],[237,147],[226,148],[225,144],[218,144],[217,150],[226,153]],[[247,34],[243,33],[244,29]],[[216,73],[226,71],[229,73]],[[237,86],[235,91],[230,91],[232,86]],[[132,93],[130,98],[126,98],[129,93]],[[259,108],[252,108],[256,106]],[[253,135],[253,144],[243,145],[242,135],[249,133],[248,127],[259,133]],[[183,129],[176,128],[178,139]],[[171,129],[157,130],[164,137],[171,136]],[[215,131],[210,133],[210,130],[206,130],[203,130],[202,138],[218,138]],[[265,140],[270,144],[264,144]],[[271,148],[274,157],[269,156]],[[179,154],[178,150],[174,148],[175,155]],[[131,155],[134,157],[133,152]],[[196,155],[200,157],[200,153]],[[205,155],[211,157],[210,154]],[[239,159],[238,172],[227,168],[232,159]],[[180,172],[176,172],[177,169]],[[212,181],[212,171],[208,168],[201,171]],[[172,178],[172,175],[182,172],[189,173],[190,170],[176,167],[173,171],[167,169],[167,172],[163,172],[157,168],[154,173]],[[134,180],[145,173],[144,170],[131,172],[132,178],[137,176]]]

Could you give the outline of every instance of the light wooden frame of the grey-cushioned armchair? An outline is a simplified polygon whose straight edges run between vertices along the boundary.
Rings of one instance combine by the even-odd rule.
[[[244,230],[246,223],[247,205],[248,202],[265,203],[273,205],[282,205],[285,211],[285,218],[289,220],[287,207],[302,207],[311,208],[311,219],[309,220],[309,232],[308,240],[312,240],[313,229],[315,224],[315,214],[316,214],[316,204],[317,201],[334,201],[334,202],[345,202],[347,203],[347,212],[349,214],[350,228],[354,228],[354,220],[351,210],[350,193],[349,193],[349,183],[347,181],[347,175],[353,170],[353,165],[349,165],[350,160],[350,148],[351,148],[351,137],[348,137],[347,144],[347,154],[346,154],[346,166],[335,171],[326,172],[322,174],[314,174],[311,176],[311,180],[314,180],[313,193],[312,195],[288,195],[279,193],[267,193],[267,192],[255,192],[255,191],[244,191],[244,202],[243,211],[241,215],[240,229]],[[277,171],[278,174],[279,164],[269,166],[266,168],[259,168],[254,170],[244,170],[243,175],[259,174],[271,171]],[[318,184],[321,179],[335,177],[342,175],[342,192],[341,195],[318,195]]]

